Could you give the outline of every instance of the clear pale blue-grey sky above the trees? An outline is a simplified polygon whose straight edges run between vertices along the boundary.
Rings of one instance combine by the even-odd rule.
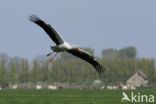
[[[32,59],[50,52],[55,44],[30,14],[98,56],[104,48],[135,46],[138,57],[156,58],[155,0],[1,0],[0,53]]]

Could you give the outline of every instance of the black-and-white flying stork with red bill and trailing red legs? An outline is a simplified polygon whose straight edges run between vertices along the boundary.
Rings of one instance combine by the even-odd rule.
[[[89,52],[78,48],[76,45],[70,45],[64,41],[51,25],[47,24],[36,15],[31,15],[29,20],[40,26],[56,43],[56,46],[51,46],[51,50],[56,52],[56,54],[49,60],[49,62],[51,62],[58,53],[67,51],[68,53],[90,63],[100,75],[104,72],[104,67],[97,62],[94,56],[92,56]],[[50,56],[53,52],[47,54],[47,56]]]

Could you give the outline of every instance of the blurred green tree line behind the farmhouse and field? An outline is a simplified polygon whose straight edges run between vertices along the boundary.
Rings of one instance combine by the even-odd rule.
[[[83,48],[94,55],[91,48]],[[155,60],[138,58],[135,47],[122,49],[104,49],[97,60],[105,67],[99,77],[95,69],[87,62],[68,53],[61,53],[51,63],[46,58],[35,58],[29,62],[24,58],[9,58],[0,55],[0,83],[36,83],[36,82],[68,82],[75,84],[91,84],[101,79],[104,84],[126,83],[136,71],[142,71],[151,83],[156,82]]]

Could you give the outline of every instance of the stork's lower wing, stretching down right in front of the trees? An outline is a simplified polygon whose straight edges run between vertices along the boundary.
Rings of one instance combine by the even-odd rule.
[[[93,67],[96,69],[96,71],[101,75],[104,72],[104,67],[100,65],[96,59],[88,52],[82,50],[82,49],[75,49],[72,48],[70,50],[67,50],[67,52],[89,62],[90,64],[93,65]]]

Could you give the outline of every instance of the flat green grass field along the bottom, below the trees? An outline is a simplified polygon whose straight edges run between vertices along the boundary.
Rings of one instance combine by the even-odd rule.
[[[123,90],[36,90],[36,89],[2,89],[0,104],[133,104],[122,102]],[[139,89],[124,91],[156,96],[156,89]],[[136,103],[149,104],[149,103]],[[156,104],[156,103],[152,103]]]

